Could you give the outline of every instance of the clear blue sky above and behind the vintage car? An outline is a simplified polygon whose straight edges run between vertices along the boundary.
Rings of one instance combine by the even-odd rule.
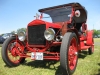
[[[0,34],[26,28],[39,14],[38,9],[71,2],[79,2],[86,8],[89,30],[100,30],[100,0],[0,0]]]

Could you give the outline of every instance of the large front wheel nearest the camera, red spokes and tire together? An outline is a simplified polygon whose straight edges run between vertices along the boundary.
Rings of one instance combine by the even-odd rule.
[[[78,61],[78,42],[75,33],[67,32],[60,49],[60,65],[64,75],[72,75]]]

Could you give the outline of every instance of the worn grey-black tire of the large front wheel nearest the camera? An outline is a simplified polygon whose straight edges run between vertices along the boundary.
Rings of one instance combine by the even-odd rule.
[[[71,42],[72,40],[76,40],[76,43],[74,44],[76,47],[73,47],[73,51],[75,51],[76,55],[75,55],[75,64],[73,69],[71,70],[69,65],[71,65],[71,60],[69,61],[69,56],[68,54],[70,54],[69,52],[71,52]],[[72,43],[73,44],[73,43]],[[70,49],[70,50],[69,50]],[[74,52],[73,52],[74,53]],[[73,59],[73,60],[75,60]],[[62,67],[63,73],[64,75],[72,75],[76,69],[77,66],[77,61],[78,61],[78,41],[77,41],[77,36],[75,33],[72,32],[67,32],[64,35],[64,38],[62,40],[62,44],[61,44],[61,48],[60,48],[60,65]]]

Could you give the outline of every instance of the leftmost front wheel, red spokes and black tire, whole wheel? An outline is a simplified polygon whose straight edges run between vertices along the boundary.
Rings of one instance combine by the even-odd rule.
[[[25,58],[18,55],[22,47],[22,43],[18,40],[16,41],[15,37],[10,37],[5,40],[2,45],[1,55],[7,66],[18,66],[25,61]]]

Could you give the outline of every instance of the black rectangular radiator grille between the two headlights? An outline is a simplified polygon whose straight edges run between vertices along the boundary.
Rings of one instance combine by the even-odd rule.
[[[45,24],[33,25],[28,27],[28,43],[30,45],[45,45],[44,31]]]

